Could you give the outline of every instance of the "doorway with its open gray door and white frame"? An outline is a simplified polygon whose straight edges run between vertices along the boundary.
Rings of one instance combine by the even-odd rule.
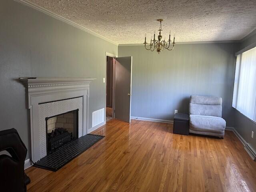
[[[132,56],[116,57],[106,52],[105,120],[131,122]]]

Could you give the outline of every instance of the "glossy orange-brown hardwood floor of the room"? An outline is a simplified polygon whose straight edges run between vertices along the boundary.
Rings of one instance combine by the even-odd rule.
[[[256,191],[256,162],[231,131],[215,139],[111,120],[93,133],[106,137],[57,172],[28,168],[28,192]]]

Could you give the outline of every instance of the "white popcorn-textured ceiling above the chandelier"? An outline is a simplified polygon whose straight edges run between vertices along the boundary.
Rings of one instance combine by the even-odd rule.
[[[118,44],[142,43],[163,18],[177,42],[241,40],[256,28],[256,0],[27,0]]]

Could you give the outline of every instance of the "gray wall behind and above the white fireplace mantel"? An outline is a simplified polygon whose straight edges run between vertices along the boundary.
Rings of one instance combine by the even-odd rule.
[[[29,147],[25,89],[18,77],[90,77],[92,112],[104,108],[105,52],[118,47],[13,0],[0,1],[0,130],[16,128]]]

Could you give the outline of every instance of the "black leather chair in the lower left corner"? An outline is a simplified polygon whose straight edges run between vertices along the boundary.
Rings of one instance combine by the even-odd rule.
[[[16,129],[0,131],[0,152],[4,150],[11,156],[0,155],[0,191],[26,192],[26,185],[30,183],[24,172],[27,148]]]

